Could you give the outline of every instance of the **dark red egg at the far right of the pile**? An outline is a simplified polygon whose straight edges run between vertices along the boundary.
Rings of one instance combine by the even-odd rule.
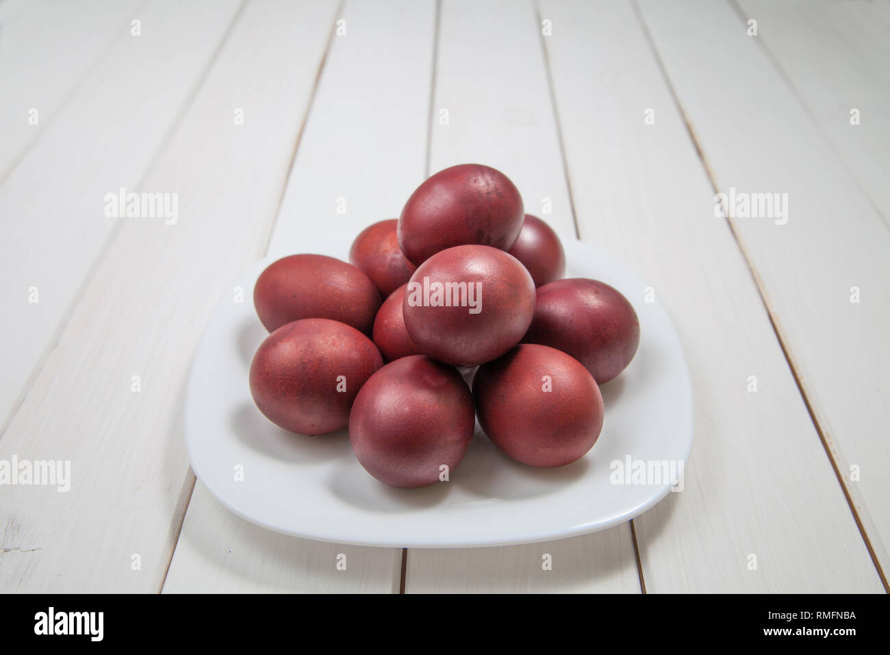
[[[634,358],[640,322],[634,307],[608,284],[569,278],[538,288],[535,318],[522,341],[568,353],[604,384]]]

